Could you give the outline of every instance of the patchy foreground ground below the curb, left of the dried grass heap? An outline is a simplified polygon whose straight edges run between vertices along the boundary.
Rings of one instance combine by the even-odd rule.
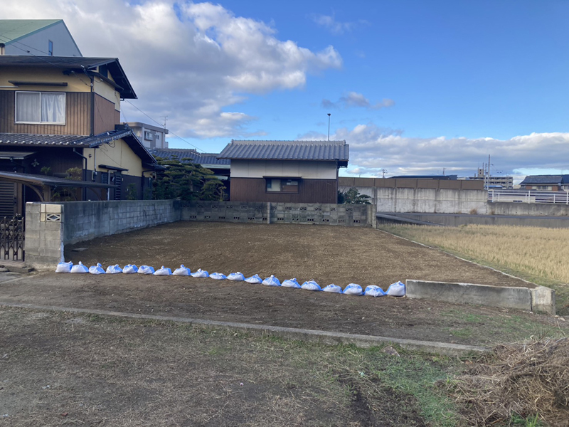
[[[416,370],[415,384],[433,389],[452,369],[378,350],[6,307],[0,334],[0,426],[427,426],[393,374]]]

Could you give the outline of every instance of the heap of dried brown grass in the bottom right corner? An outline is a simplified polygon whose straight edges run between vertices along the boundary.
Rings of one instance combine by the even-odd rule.
[[[538,414],[569,426],[569,339],[504,344],[446,383],[471,426]]]

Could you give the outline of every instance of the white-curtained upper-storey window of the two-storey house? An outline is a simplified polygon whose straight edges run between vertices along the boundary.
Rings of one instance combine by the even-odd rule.
[[[16,123],[65,125],[65,93],[16,92]]]

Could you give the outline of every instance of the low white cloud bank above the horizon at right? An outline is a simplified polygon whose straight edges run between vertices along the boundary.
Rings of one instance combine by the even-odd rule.
[[[298,139],[326,137],[309,132]],[[569,133],[532,133],[510,139],[415,138],[367,124],[336,130],[330,139],[345,139],[350,145],[348,174],[382,176],[381,169],[387,169],[387,176],[429,175],[442,174],[445,168],[445,174],[469,176],[488,162],[488,155],[492,174],[517,176],[520,169],[535,168],[569,171]]]

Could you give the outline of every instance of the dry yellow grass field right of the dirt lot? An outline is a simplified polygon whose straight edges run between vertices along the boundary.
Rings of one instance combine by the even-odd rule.
[[[567,228],[382,224],[381,229],[554,288],[558,310],[569,312]]]

